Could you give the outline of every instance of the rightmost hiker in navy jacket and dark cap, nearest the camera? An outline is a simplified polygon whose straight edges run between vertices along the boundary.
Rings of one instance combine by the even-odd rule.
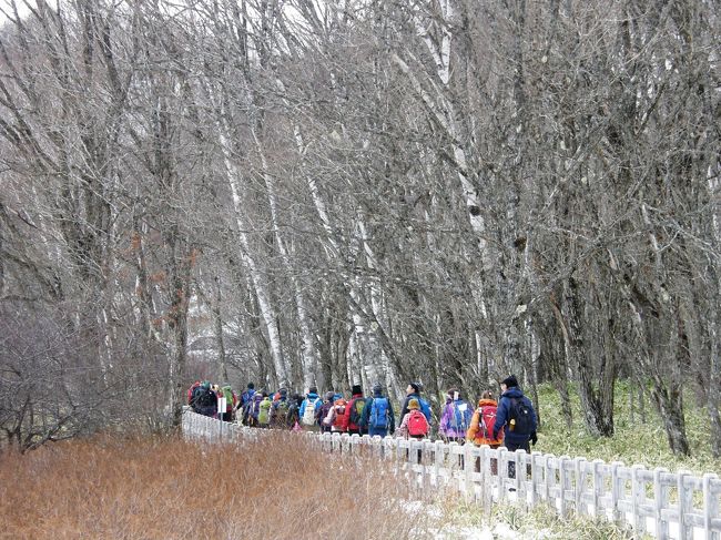
[[[538,421],[536,410],[524,391],[518,387],[515,375],[505,378],[500,383],[501,396],[496,411],[496,424],[494,424],[494,438],[504,430],[504,446],[508,451],[518,449],[530,454],[529,441],[536,445],[536,429]],[[516,478],[516,463],[508,463],[508,477]]]

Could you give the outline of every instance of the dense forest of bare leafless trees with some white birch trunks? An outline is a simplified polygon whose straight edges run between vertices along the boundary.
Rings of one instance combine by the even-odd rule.
[[[6,441],[515,373],[720,455],[717,2],[0,6]]]

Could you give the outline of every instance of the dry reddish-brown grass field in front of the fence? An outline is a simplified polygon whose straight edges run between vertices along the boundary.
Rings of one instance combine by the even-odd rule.
[[[263,444],[95,437],[0,455],[1,538],[423,538],[405,480],[319,454],[292,434]]]

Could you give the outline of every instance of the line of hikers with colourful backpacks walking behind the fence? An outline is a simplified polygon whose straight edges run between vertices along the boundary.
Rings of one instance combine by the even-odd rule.
[[[248,383],[238,397],[230,386],[197,380],[187,390],[187,403],[197,414],[257,428],[424,439],[430,436],[434,417],[422,389],[419,383],[407,386],[397,426],[390,399],[384,396],[380,385],[375,385],[367,397],[359,385],[354,385],[351,398],[346,399],[334,390],[321,397],[315,387],[305,397],[288,395],[285,388],[270,394],[255,390],[254,384]],[[530,452],[530,444],[537,441],[534,406],[512,375],[500,383],[500,390],[498,401],[491,390],[486,390],[477,406],[470,406],[459,390],[449,389],[438,417],[438,435],[449,442],[468,441],[491,448],[504,445],[509,451]],[[220,398],[225,398],[226,406],[219,414]]]

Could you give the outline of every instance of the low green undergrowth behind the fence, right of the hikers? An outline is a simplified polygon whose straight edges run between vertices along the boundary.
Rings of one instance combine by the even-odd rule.
[[[671,471],[687,469],[694,473],[721,473],[721,460],[711,455],[709,416],[705,407],[699,407],[693,399],[684,400],[686,428],[691,447],[691,457],[674,456],[669,449],[663,424],[646,393],[646,422],[641,422],[638,410],[631,422],[629,391],[631,383],[622,380],[616,385],[613,437],[595,438],[586,432],[580,400],[575,388],[569,388],[573,425],[570,431],[561,414],[558,393],[550,385],[538,388],[538,404],[542,421],[538,444],[534,450],[557,456],[602,459],[607,462],[623,461],[626,465],[643,465],[648,468],[666,467]],[[691,397],[691,396],[689,396]]]

